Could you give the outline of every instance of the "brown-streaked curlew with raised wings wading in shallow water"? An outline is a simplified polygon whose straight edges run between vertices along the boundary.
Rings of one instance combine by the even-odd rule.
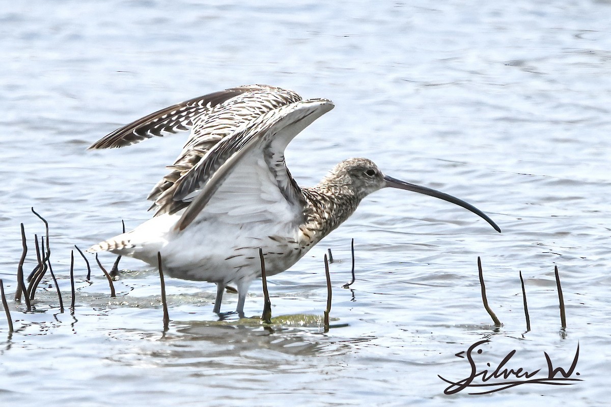
[[[249,85],[190,99],[106,135],[90,149],[123,147],[153,136],[191,131],[170,173],[148,199],[155,216],[132,231],[94,245],[151,265],[169,276],[216,283],[214,312],[225,287],[236,286],[236,312],[253,279],[284,272],[341,225],[371,192],[392,187],[423,193],[492,220],[476,207],[427,187],[384,175],[371,160],[337,164],[315,187],[301,188],[284,161],[288,143],[333,109],[290,90]]]

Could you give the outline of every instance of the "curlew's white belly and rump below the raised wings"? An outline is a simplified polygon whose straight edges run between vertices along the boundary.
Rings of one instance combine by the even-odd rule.
[[[128,250],[117,251],[152,265],[161,253],[167,275],[210,283],[247,283],[261,275],[259,248],[266,275],[284,272],[313,246],[297,225],[256,222],[230,225],[201,220],[174,231],[180,215],[160,215],[130,234]]]

